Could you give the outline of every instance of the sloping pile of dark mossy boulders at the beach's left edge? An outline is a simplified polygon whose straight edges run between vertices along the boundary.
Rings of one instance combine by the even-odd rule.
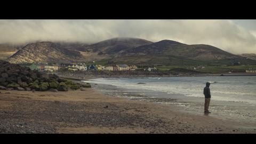
[[[74,83],[55,74],[44,74],[0,60],[0,90],[18,91],[68,91],[85,90],[89,83]]]

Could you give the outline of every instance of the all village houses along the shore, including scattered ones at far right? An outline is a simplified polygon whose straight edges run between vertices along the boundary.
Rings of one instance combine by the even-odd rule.
[[[58,71],[163,71],[161,67],[154,67],[154,66],[135,66],[135,65],[86,65],[86,63],[21,63],[23,67],[29,67],[31,70],[37,70],[45,73],[52,73]],[[233,65],[236,66],[236,65]],[[227,73],[256,73],[255,68],[239,68],[239,69],[230,69],[225,68],[227,66],[221,66],[223,69],[227,69]],[[211,67],[207,67],[210,69]],[[194,66],[188,67],[187,69],[193,71],[205,71],[205,66]],[[228,70],[229,69],[229,70]]]

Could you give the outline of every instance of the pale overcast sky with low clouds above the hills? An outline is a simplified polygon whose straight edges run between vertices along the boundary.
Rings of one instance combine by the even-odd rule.
[[[114,37],[170,39],[256,53],[256,20],[0,20],[0,43],[94,43]]]

